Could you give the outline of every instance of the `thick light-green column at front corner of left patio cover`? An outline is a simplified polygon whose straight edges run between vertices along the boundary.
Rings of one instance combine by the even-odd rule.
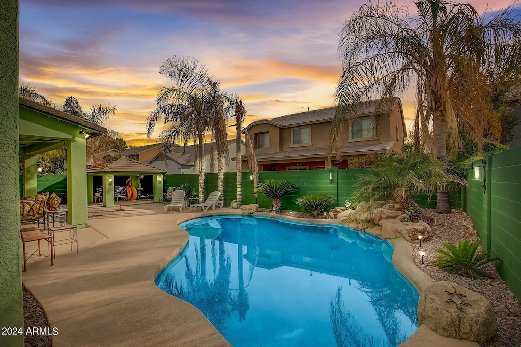
[[[86,140],[74,137],[67,147],[67,209],[68,223],[84,227],[87,223],[87,156]]]

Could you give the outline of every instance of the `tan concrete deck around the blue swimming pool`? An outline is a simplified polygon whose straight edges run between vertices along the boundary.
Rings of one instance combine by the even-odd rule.
[[[143,204],[111,213],[117,208],[104,208],[79,230],[80,254],[59,246],[54,266],[48,258],[28,261],[23,283],[58,329],[53,346],[230,346],[199,310],[157,288],[154,278],[188,240],[178,223],[240,211],[164,213],[163,204]],[[410,244],[393,245],[393,262],[420,290],[432,279],[411,261]],[[442,338],[425,326],[402,344],[417,345],[479,346]]]

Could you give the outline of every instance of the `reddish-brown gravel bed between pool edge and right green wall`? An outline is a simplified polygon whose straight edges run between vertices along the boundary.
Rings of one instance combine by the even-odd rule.
[[[483,270],[492,274],[494,279],[480,278],[478,280],[449,274],[431,264],[438,254],[435,250],[445,249],[443,243],[450,242],[457,245],[460,240],[475,241],[478,239],[472,220],[460,210],[453,210],[449,214],[439,214],[435,210],[425,209],[424,213],[434,221],[431,224],[432,236],[421,242],[421,245],[427,249],[424,264],[421,264],[421,256],[417,252],[413,252],[412,259],[416,266],[435,280],[457,283],[482,294],[490,301],[498,319],[499,332],[490,344],[483,346],[520,347],[521,304],[499,277],[492,264],[483,266]]]

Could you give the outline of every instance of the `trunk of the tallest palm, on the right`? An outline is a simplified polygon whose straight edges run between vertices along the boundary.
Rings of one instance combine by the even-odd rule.
[[[434,127],[434,149],[436,157],[443,164],[447,161],[447,124],[445,117],[440,109],[437,109],[433,114],[433,127]],[[447,173],[446,166],[443,167],[443,172]],[[436,212],[438,213],[450,213],[451,204],[449,202],[449,191],[446,187],[439,186],[436,200]]]

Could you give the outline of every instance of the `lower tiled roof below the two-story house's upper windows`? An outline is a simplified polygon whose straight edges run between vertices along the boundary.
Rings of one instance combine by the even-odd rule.
[[[370,153],[387,153],[394,145],[394,141],[380,144],[350,145],[340,147],[341,156],[356,156]],[[282,160],[282,159],[306,159],[324,157],[329,155],[329,148],[308,148],[281,152],[258,153],[258,161]]]

